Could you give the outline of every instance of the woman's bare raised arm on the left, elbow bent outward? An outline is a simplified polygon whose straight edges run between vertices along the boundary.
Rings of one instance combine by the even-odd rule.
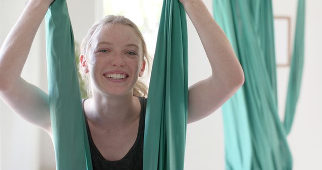
[[[21,117],[50,131],[48,95],[21,78],[36,32],[53,0],[31,0],[0,48],[0,97]]]

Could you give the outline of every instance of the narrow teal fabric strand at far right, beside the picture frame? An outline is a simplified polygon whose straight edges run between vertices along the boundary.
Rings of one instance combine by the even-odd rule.
[[[299,0],[297,5],[295,41],[291,60],[291,70],[288,80],[284,128],[290,133],[300,93],[304,65],[304,32],[305,32],[305,0]]]

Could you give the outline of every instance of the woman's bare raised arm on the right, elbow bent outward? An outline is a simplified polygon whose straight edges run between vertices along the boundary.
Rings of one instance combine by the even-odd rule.
[[[210,115],[232,97],[244,83],[244,72],[226,35],[202,0],[180,2],[198,32],[212,70],[209,78],[189,88],[188,123],[191,123]]]

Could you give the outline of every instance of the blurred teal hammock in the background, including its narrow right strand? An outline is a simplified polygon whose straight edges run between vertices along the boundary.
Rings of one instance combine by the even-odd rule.
[[[213,1],[214,17],[245,73],[244,86],[222,107],[226,169],[292,169],[286,135],[295,113],[303,67],[304,4],[299,0],[283,126],[277,106],[271,0]]]

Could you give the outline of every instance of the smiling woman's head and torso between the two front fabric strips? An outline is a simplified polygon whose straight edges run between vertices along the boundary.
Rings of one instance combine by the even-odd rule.
[[[121,168],[130,159],[134,169],[142,168],[147,90],[137,81],[148,56],[141,33],[130,20],[107,16],[90,29],[81,49],[79,71],[92,96],[83,103],[93,167]]]

